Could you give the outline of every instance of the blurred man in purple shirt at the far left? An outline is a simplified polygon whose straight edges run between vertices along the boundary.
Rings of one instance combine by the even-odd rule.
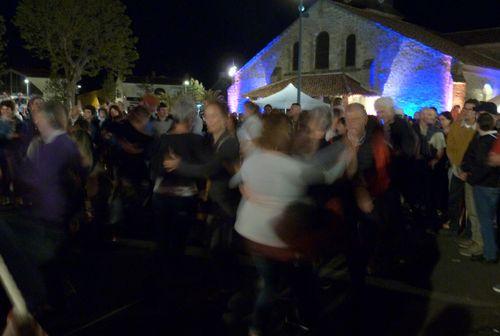
[[[84,168],[65,132],[67,120],[57,103],[33,113],[40,138],[30,144],[23,169],[33,204],[27,214],[0,223],[0,254],[32,309],[46,303],[43,278],[33,274],[58,254],[70,221],[83,207]]]

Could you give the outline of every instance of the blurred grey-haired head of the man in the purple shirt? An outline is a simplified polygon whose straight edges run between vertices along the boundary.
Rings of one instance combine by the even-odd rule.
[[[64,105],[47,102],[40,111],[33,111],[33,122],[42,137],[49,136],[54,130],[64,130],[68,124],[68,112]]]

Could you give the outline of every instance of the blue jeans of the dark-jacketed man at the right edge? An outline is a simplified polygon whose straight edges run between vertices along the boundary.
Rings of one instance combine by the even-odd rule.
[[[495,222],[500,199],[500,188],[474,186],[474,201],[484,241],[483,256],[487,260],[497,258]]]

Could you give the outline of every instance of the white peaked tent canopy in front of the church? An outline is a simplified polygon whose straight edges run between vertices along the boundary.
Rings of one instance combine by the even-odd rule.
[[[297,88],[293,84],[288,84],[283,90],[276,92],[265,98],[260,98],[254,101],[260,107],[271,105],[275,109],[288,109],[293,103],[297,102]],[[300,105],[304,110],[311,110],[315,107],[329,107],[330,105],[323,103],[321,100],[314,99],[304,92],[300,93]]]

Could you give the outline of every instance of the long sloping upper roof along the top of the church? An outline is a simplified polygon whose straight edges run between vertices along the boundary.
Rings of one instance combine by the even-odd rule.
[[[500,68],[500,62],[480,55],[471,50],[445,39],[433,32],[430,32],[420,26],[401,20],[401,18],[382,13],[372,9],[361,9],[339,2],[331,1],[337,7],[340,7],[350,13],[361,16],[367,20],[379,23],[390,28],[406,37],[419,41],[433,49],[439,50],[446,55],[450,55],[463,63],[487,68]]]

